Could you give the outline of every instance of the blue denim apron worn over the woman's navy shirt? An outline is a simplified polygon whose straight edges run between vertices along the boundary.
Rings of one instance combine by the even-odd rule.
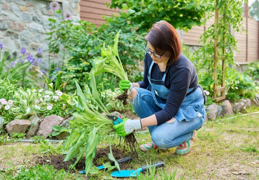
[[[151,79],[151,69],[154,65],[154,61],[152,61],[149,71],[147,74],[147,79],[149,81],[148,90],[151,90],[152,96],[154,98],[155,103],[162,109],[165,108],[166,99],[169,95],[169,89],[165,87],[165,76],[169,70],[169,66],[166,66],[165,74],[162,80],[154,80]],[[181,122],[183,119],[186,121],[192,121],[198,115],[200,115],[199,111],[204,107],[204,98],[202,96],[202,90],[199,88],[198,84],[189,88],[186,94],[186,97],[183,100],[179,110],[174,115],[174,117]]]

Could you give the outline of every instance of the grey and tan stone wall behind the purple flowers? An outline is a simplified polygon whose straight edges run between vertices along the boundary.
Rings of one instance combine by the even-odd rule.
[[[62,14],[72,12],[73,19],[80,19],[80,0],[59,0]],[[19,56],[21,47],[32,55],[42,51],[40,68],[48,68],[48,41],[50,31],[48,18],[52,18],[49,0],[0,0],[0,43],[3,51],[9,50],[12,56]],[[54,18],[57,16],[54,14]],[[59,14],[59,16],[61,16]],[[51,55],[59,65],[59,55]]]

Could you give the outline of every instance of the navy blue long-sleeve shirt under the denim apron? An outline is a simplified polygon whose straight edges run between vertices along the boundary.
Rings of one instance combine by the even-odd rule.
[[[144,59],[144,77],[139,83],[141,88],[146,89],[149,85],[147,74],[153,59],[146,53]],[[162,80],[165,72],[158,69],[158,65],[154,63],[151,70],[151,79]],[[165,76],[165,87],[169,89],[169,95],[165,104],[165,108],[155,114],[158,125],[169,121],[177,113],[183,99],[185,98],[189,88],[198,84],[198,77],[193,63],[181,54],[176,62],[174,62],[167,75]],[[202,90],[203,91],[203,90]],[[203,96],[205,96],[203,92]],[[205,101],[204,101],[205,103]]]

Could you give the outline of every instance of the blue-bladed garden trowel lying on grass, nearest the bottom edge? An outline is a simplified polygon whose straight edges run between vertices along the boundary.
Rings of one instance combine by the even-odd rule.
[[[154,164],[150,164],[150,165],[146,165],[146,166],[141,166],[140,168],[138,168],[137,170],[120,170],[120,171],[114,171],[111,176],[113,177],[137,177],[137,175],[140,175],[140,172],[144,172],[147,171],[148,169],[151,168],[161,168],[161,167],[165,167],[165,164],[160,161]]]

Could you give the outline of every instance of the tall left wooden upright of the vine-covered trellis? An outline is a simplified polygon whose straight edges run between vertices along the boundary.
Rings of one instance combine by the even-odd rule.
[[[218,62],[218,0],[215,0],[215,29],[214,29],[214,68],[213,68],[213,74],[214,77],[213,79],[216,81],[217,80],[217,62]],[[213,88],[214,94],[213,98],[216,101],[216,95],[217,95],[217,83],[214,83],[214,88]]]

